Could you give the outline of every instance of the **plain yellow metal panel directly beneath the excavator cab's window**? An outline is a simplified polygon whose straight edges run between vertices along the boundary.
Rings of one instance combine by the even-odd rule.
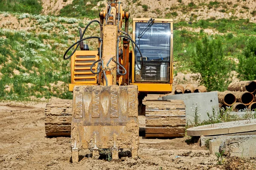
[[[159,92],[159,93],[172,92],[172,84],[130,83],[130,85],[137,85],[139,92]]]

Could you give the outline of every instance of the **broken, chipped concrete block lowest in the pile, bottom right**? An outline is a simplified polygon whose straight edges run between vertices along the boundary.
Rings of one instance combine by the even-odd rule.
[[[209,141],[211,154],[224,152],[225,156],[256,157],[256,135],[219,136]]]

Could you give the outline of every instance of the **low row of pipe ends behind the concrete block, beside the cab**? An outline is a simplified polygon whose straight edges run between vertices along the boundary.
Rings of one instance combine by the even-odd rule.
[[[183,86],[179,84],[175,87],[174,94],[203,93],[203,92],[207,92],[207,89],[204,85],[195,86],[192,84],[188,84]]]

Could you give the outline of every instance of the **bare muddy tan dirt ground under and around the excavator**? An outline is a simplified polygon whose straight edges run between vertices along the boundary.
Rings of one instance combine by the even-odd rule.
[[[84,157],[71,163],[70,138],[47,138],[44,131],[46,103],[0,103],[1,170],[218,170],[216,157],[188,139],[142,139],[139,158],[118,161]]]

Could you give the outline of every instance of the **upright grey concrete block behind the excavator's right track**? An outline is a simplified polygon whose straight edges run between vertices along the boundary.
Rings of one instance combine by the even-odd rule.
[[[176,94],[159,97],[162,100],[183,100],[186,105],[186,122],[188,125],[194,124],[195,107],[198,107],[198,115],[200,115],[200,122],[208,120],[207,112],[212,115],[212,108],[218,110],[218,93],[206,92],[206,93],[191,93],[191,94]],[[217,114],[217,113],[216,113]]]

